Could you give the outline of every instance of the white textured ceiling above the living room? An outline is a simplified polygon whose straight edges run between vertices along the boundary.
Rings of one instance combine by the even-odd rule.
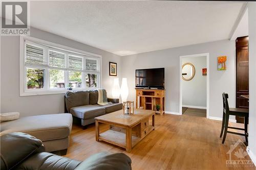
[[[241,2],[31,1],[31,26],[120,55],[230,38]]]

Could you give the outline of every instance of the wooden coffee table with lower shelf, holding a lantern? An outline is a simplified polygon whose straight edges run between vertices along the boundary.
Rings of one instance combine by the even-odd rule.
[[[123,110],[95,117],[96,141],[103,140],[130,153],[132,148],[155,129],[155,111],[135,109],[133,115],[123,114]],[[149,119],[152,117],[152,125]],[[99,133],[99,123],[110,125],[109,130]]]

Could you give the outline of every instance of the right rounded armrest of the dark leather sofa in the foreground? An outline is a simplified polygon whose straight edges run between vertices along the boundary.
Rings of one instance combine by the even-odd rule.
[[[123,153],[101,152],[90,156],[80,163],[74,170],[98,170],[98,169],[115,169],[131,170],[132,160]]]

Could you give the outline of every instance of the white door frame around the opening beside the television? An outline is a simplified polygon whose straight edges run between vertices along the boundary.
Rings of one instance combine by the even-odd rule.
[[[206,56],[207,62],[207,87],[206,87],[206,118],[210,114],[210,55],[209,53],[194,54],[187,56],[180,56],[180,115],[182,114],[182,59],[187,57],[203,57]]]

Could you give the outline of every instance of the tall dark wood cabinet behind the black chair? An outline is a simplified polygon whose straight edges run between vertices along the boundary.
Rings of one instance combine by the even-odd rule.
[[[249,101],[241,95],[249,95],[249,56],[248,36],[236,39],[237,87],[236,108],[249,108]],[[236,116],[238,123],[244,123],[244,118]]]

